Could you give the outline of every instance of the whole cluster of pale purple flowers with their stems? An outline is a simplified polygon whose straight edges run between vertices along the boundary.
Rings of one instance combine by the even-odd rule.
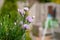
[[[25,7],[24,9],[18,9],[18,12],[20,13],[20,15],[23,17],[23,20],[27,21],[28,23],[31,23],[33,21],[33,18],[29,15],[25,16],[26,12],[28,12],[29,8]],[[30,29],[29,24],[28,23],[24,23],[25,21],[20,21],[20,24],[23,25],[23,28],[25,29]]]

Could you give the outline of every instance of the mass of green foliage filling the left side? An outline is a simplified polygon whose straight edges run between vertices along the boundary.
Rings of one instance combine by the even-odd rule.
[[[18,12],[17,0],[4,0],[0,13],[0,40],[22,40],[25,33],[23,25],[28,23],[25,19],[28,16],[25,10],[24,17]]]

